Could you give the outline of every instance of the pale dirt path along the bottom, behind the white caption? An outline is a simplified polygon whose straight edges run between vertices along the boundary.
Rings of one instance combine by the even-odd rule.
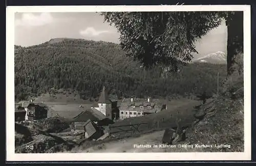
[[[203,152],[203,148],[178,147],[178,145],[166,147],[166,145],[162,144],[163,133],[164,130],[155,131],[139,137],[129,137],[119,141],[103,143],[87,149],[71,150],[68,153]],[[135,147],[136,144],[138,145],[137,148]],[[188,145],[186,142],[180,142],[179,144]],[[141,148],[140,145],[144,145],[145,147]],[[148,145],[151,145],[151,147],[146,147]],[[153,147],[153,145],[157,145],[158,147]]]

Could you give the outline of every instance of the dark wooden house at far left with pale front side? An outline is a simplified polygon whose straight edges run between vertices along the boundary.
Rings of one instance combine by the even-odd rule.
[[[48,109],[43,103],[30,103],[27,106],[27,116],[29,121],[47,119]]]

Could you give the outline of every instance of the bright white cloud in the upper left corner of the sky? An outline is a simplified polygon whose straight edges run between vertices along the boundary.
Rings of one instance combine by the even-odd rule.
[[[16,26],[42,26],[53,22],[53,17],[50,13],[41,13],[35,15],[33,13],[23,13],[22,18],[15,20]]]

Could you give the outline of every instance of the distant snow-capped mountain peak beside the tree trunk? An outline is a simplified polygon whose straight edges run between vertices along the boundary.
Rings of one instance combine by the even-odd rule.
[[[226,54],[222,51],[207,54],[202,58],[194,60],[194,62],[212,63],[212,64],[225,64],[227,63]]]

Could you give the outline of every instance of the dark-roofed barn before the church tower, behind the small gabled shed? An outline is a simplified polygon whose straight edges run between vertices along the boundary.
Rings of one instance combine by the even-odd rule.
[[[114,123],[111,119],[103,115],[98,109],[91,108],[74,117],[71,123],[71,128],[73,130],[83,130],[84,125],[86,125],[89,119],[99,126],[105,126]]]

